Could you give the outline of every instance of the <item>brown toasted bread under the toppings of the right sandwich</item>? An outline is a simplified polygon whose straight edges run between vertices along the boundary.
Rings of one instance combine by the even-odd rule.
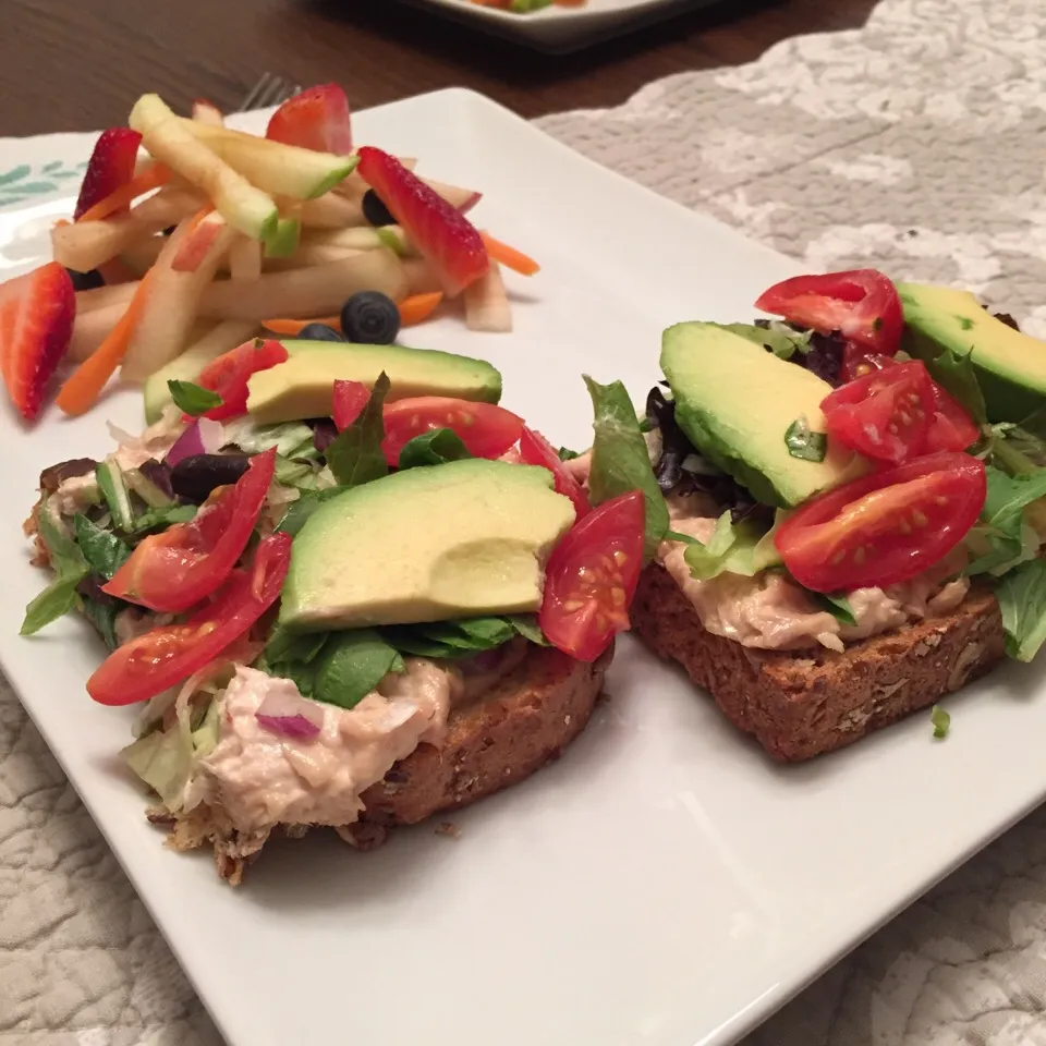
[[[1005,657],[995,597],[973,588],[953,613],[832,650],[761,650],[706,632],[660,567],[647,567],[632,607],[636,634],[679,661],[735,727],[776,759],[843,747],[932,705]]]

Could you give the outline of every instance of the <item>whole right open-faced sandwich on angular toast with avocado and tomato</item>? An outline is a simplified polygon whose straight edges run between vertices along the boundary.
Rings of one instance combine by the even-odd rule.
[[[1046,638],[1046,343],[874,270],[757,307],[784,321],[665,332],[647,438],[667,511],[632,618],[800,761]]]

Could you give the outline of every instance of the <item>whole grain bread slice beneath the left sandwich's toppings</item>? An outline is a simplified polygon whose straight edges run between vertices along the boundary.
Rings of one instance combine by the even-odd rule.
[[[482,698],[451,711],[440,745],[421,744],[362,795],[360,819],[337,830],[369,850],[396,825],[413,825],[458,810],[515,784],[557,758],[585,728],[603,689],[612,649],[586,665],[550,647],[530,646],[516,668]],[[238,885],[268,832],[244,836],[224,812],[207,805],[149,819],[170,827],[169,844],[192,850],[210,844],[219,875]],[[308,826],[285,826],[300,836]]]

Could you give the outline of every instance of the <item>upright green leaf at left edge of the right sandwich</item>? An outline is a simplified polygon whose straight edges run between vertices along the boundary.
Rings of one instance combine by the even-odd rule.
[[[592,470],[588,492],[593,504],[601,504],[631,490],[642,490],[646,500],[644,558],[654,558],[668,530],[668,507],[654,477],[646,440],[629,393],[620,381],[599,385],[584,376],[592,397],[594,419]]]

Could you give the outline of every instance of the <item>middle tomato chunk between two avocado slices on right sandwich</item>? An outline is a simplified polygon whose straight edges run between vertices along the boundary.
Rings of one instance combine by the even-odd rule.
[[[877,461],[922,453],[934,418],[934,389],[915,361],[848,381],[820,404],[828,435]],[[963,448],[958,448],[963,449]]]

